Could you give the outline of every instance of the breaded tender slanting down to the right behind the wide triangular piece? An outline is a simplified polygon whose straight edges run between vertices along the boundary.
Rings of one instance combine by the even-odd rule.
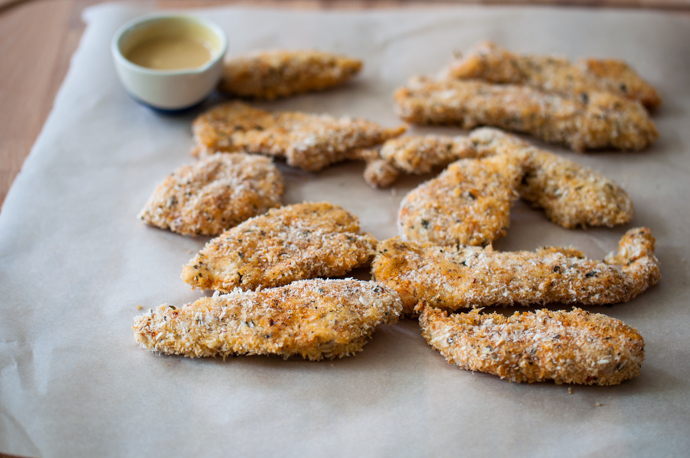
[[[515,135],[483,128],[470,134],[477,155],[520,157],[523,167],[517,192],[521,198],[565,228],[614,226],[632,220],[628,194],[613,181],[573,161],[535,148]]]

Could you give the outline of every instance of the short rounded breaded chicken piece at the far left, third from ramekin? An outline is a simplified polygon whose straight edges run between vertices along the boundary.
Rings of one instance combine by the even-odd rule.
[[[271,159],[243,153],[207,156],[156,187],[139,217],[184,235],[218,235],[280,206],[283,177]]]

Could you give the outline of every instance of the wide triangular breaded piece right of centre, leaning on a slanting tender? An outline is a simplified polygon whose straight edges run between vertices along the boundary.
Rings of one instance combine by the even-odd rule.
[[[487,245],[506,234],[521,176],[520,159],[505,154],[454,162],[402,200],[400,236],[437,245]]]

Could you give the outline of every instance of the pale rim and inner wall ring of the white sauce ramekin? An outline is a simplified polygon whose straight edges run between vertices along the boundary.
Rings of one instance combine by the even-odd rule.
[[[211,32],[216,34],[221,41],[221,46],[218,50],[217,55],[213,59],[209,59],[208,62],[206,62],[204,65],[200,67],[180,68],[175,70],[156,70],[148,67],[142,67],[141,65],[135,64],[134,62],[127,59],[124,55],[122,55],[122,52],[120,51],[120,40],[127,32],[132,30],[135,26],[144,24],[146,22],[162,21],[168,19],[183,19],[186,21],[195,22],[198,25],[201,25],[202,27],[211,30]],[[136,70],[138,72],[150,75],[190,75],[203,73],[207,71],[209,68],[216,65],[219,60],[222,60],[228,50],[228,37],[225,34],[225,31],[218,24],[216,24],[213,21],[209,21],[208,19],[182,13],[151,13],[127,21],[124,25],[117,29],[117,32],[115,32],[115,35],[111,40],[110,50],[117,63],[119,65],[128,67],[130,70]]]

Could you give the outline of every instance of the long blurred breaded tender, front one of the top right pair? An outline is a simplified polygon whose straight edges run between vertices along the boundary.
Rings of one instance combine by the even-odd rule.
[[[395,92],[397,113],[415,124],[479,125],[525,132],[575,151],[641,150],[658,136],[637,102],[607,92],[580,98],[480,80],[412,79]]]

